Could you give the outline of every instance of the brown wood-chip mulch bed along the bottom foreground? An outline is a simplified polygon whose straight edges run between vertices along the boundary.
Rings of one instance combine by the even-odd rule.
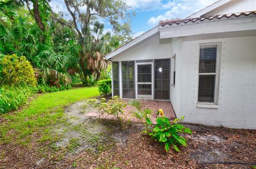
[[[164,146],[135,130],[127,133],[125,144],[117,143],[99,155],[82,151],[63,158],[52,152],[38,153],[47,146],[30,148],[0,145],[0,168],[251,168],[243,164],[204,164],[204,162],[256,163],[256,131],[186,124],[188,147],[181,152],[164,151]],[[57,156],[58,157],[58,156]],[[41,159],[44,159],[43,161]]]

